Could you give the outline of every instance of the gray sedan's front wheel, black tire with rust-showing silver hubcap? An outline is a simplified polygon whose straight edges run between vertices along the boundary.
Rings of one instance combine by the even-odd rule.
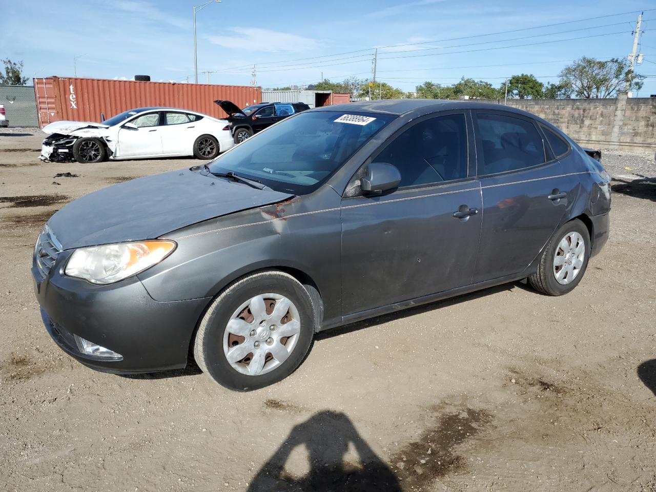
[[[194,340],[195,361],[203,373],[231,390],[274,384],[308,354],[317,313],[308,291],[288,274],[266,270],[241,277],[203,316]]]

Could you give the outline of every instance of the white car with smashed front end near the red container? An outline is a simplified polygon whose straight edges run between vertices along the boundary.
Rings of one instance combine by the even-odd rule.
[[[234,146],[225,119],[176,108],[138,108],[103,121],[56,121],[43,127],[42,161],[96,163],[143,157],[214,159]]]

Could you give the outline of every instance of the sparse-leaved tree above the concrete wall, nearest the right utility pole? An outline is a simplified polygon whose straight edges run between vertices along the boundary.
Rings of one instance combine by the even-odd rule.
[[[638,91],[645,79],[644,75],[633,72],[624,58],[602,61],[587,56],[566,66],[558,75],[560,83],[569,87],[572,94],[586,99],[617,97],[617,92]]]

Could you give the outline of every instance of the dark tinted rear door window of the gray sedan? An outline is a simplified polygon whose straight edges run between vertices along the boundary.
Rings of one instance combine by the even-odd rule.
[[[530,121],[478,114],[476,122],[483,146],[483,169],[479,174],[516,171],[546,161],[544,142]]]

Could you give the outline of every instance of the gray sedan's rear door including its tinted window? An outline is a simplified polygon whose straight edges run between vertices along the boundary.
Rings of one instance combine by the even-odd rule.
[[[474,281],[517,274],[540,253],[565,214],[571,180],[535,121],[472,111],[483,195]]]

